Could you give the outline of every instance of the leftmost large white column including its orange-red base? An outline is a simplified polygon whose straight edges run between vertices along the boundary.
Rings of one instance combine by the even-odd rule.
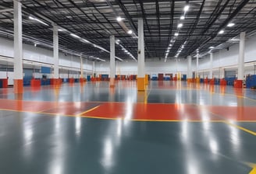
[[[13,1],[14,17],[14,92],[23,93],[23,48],[21,3]]]

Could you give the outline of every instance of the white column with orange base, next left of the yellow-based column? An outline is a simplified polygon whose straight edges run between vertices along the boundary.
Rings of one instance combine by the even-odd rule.
[[[115,36],[110,36],[110,87],[115,87],[116,64],[115,64]]]

